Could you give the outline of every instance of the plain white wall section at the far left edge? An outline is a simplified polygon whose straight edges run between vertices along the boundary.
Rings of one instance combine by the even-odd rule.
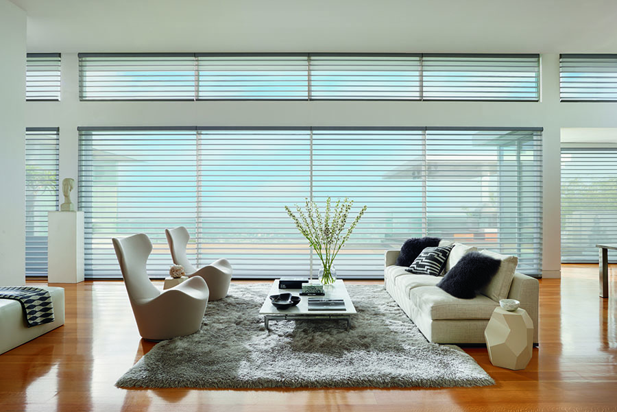
[[[25,282],[26,15],[0,0],[0,286]]]

